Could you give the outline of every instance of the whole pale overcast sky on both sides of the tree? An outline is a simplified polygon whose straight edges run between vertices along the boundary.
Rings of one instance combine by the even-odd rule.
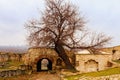
[[[70,0],[77,5],[93,31],[112,36],[120,45],[120,0]],[[44,0],[0,0],[0,46],[27,45],[25,22],[40,16]]]

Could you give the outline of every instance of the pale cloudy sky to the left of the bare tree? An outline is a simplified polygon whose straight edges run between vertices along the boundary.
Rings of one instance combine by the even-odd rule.
[[[25,45],[24,23],[38,16],[43,0],[0,0],[0,45]]]

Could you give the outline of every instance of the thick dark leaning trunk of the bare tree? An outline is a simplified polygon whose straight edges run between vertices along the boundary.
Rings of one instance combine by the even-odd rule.
[[[55,51],[63,59],[67,69],[74,70],[74,71],[76,70],[75,67],[71,64],[69,57],[67,56],[67,54],[61,44],[59,44],[59,43],[55,44]]]

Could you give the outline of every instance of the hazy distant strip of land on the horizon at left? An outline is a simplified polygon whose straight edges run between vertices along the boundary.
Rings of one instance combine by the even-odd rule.
[[[26,53],[27,46],[0,46],[0,52]]]

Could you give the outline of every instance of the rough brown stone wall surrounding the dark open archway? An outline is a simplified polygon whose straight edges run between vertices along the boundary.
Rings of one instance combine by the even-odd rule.
[[[51,60],[52,68],[55,69],[58,55],[53,49],[50,48],[31,48],[28,50],[28,53],[24,55],[22,60],[26,65],[31,65],[33,69],[36,70],[36,64],[42,58],[47,58]]]

